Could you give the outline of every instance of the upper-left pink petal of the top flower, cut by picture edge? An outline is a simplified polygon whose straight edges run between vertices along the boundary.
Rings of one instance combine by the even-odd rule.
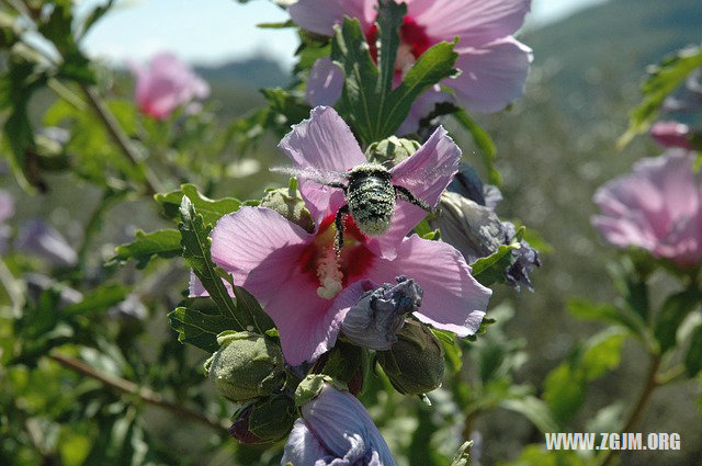
[[[375,1],[370,0],[299,0],[290,5],[290,18],[299,27],[309,32],[332,35],[333,25],[340,24],[343,16],[358,18],[363,31],[375,19]]]

